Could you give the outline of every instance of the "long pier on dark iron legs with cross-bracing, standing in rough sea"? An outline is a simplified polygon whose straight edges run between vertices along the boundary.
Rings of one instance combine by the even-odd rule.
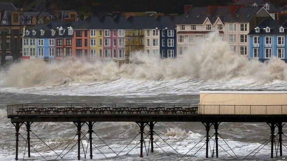
[[[63,104],[63,103],[32,104],[30,103],[30,104],[8,105],[7,106],[7,117],[11,119],[11,123],[13,123],[16,129],[15,160],[19,159],[18,158],[19,136],[21,136],[21,138],[26,141],[28,157],[30,157],[31,155],[31,148],[33,147],[30,143],[30,139],[31,139],[30,134],[33,133],[33,129],[31,128],[31,124],[33,122],[59,122],[59,123],[72,122],[74,123],[75,133],[76,133],[75,137],[77,136],[77,144],[75,144],[75,146],[77,145],[77,148],[78,148],[78,160],[83,159],[83,157],[81,157],[81,154],[83,153],[85,154],[85,157],[86,157],[86,153],[88,151],[88,150],[84,150],[84,148],[82,149],[82,144],[81,144],[82,139],[88,140],[90,159],[93,159],[93,147],[96,148],[96,145],[94,145],[92,142],[93,135],[101,139],[93,130],[93,125],[96,122],[135,122],[139,126],[139,133],[138,135],[136,135],[136,137],[140,135],[140,140],[138,143],[138,145],[140,146],[140,154],[139,154],[140,157],[143,157],[144,151],[146,152],[146,155],[148,155],[149,152],[152,153],[154,144],[158,146],[154,142],[154,136],[158,136],[159,138],[161,138],[161,136],[159,136],[153,130],[157,122],[201,122],[203,124],[203,128],[205,128],[206,130],[206,135],[199,142],[201,141],[205,142],[204,145],[206,146],[205,147],[206,158],[213,157],[209,155],[210,147],[208,144],[210,140],[215,142],[215,157],[216,158],[219,157],[218,148],[222,148],[222,146],[218,144],[218,139],[221,139],[224,141],[224,138],[222,138],[221,135],[218,133],[218,129],[220,128],[221,122],[263,122],[263,123],[267,123],[270,126],[271,135],[270,135],[270,138],[266,140],[262,145],[265,146],[269,142],[271,142],[270,157],[273,158],[274,152],[276,156],[278,155],[283,156],[282,145],[286,148],[286,146],[282,143],[283,137],[287,139],[286,135],[283,133],[283,130],[282,130],[283,126],[285,125],[284,122],[286,122],[286,118],[287,118],[286,117],[287,115],[284,114],[285,113],[284,110],[286,109],[286,107],[287,105],[279,105],[279,106],[278,105],[275,105],[275,106],[271,106],[271,105],[266,105],[266,106],[263,106],[263,105],[258,105],[258,106],[256,105],[238,105],[238,106],[237,105],[232,105],[232,106],[226,105],[224,106],[224,105],[198,105],[198,103],[176,103],[176,104],[173,104],[173,103],[163,103],[163,104],[159,104],[159,103],[158,104],[157,103],[153,103],[153,104],[74,104],[74,103],[73,104]],[[256,108],[260,108],[261,111],[259,111],[259,113],[256,113],[256,110],[253,110]],[[201,109],[203,112],[201,112],[198,109]],[[225,110],[228,109],[228,111],[232,111],[232,112],[228,114],[220,114],[220,112],[219,113],[216,112],[216,114],[212,114],[206,111],[206,109],[213,109],[213,110],[216,109],[216,111],[217,110],[222,111],[224,109]],[[240,109],[244,109],[245,111],[248,111],[248,113],[242,114],[242,111]],[[277,110],[276,114],[268,113],[268,111],[270,111],[269,109],[276,109]],[[262,111],[266,111],[266,113],[262,113]],[[26,131],[27,131],[26,138],[19,133],[19,129],[24,128],[24,126],[26,126]],[[83,128],[85,127],[88,128],[88,133],[86,134],[83,133]],[[149,132],[147,134],[144,133],[145,128],[149,128]],[[215,133],[211,135],[210,130],[212,130],[213,128],[215,130]],[[41,140],[41,138],[39,138],[35,133],[33,134],[39,140]],[[87,134],[89,136],[86,136]],[[215,136],[214,139],[213,139],[213,136]],[[134,139],[136,137],[134,137]],[[149,145],[151,145],[151,146],[148,146],[148,149],[146,148],[146,140],[145,140],[146,138],[149,140],[148,141]],[[168,144],[164,139],[162,140],[166,144]],[[45,143],[43,140],[41,141]],[[104,140],[102,141],[104,142]],[[198,143],[196,143],[196,145]],[[227,144],[226,141],[224,141],[224,143]],[[128,145],[126,145],[126,147]],[[196,145],[190,145],[191,149],[193,149]],[[47,146],[49,147],[49,145]],[[171,145],[169,146],[176,153],[178,153]],[[144,147],[145,147],[145,150],[144,150]],[[229,145],[228,147],[230,148]],[[159,148],[161,149],[161,147]],[[201,148],[199,150],[201,150]],[[54,151],[52,148],[50,149]],[[251,153],[256,154],[261,149],[258,147]],[[34,150],[38,152],[36,149]],[[99,150],[99,149],[96,148],[96,150]],[[121,150],[121,152],[123,150]],[[161,150],[164,153],[166,153],[163,149]],[[225,149],[223,150],[227,152]],[[237,159],[238,157],[233,152],[233,150],[231,148],[229,150],[231,150],[231,152],[227,152],[228,155],[230,155],[234,160],[238,160]],[[114,150],[113,152],[116,155],[115,157],[119,156],[121,153],[121,152],[115,152]],[[186,156],[188,152],[186,154],[182,154],[182,157]],[[251,153],[245,157],[243,156],[244,157],[243,159],[250,156]],[[57,154],[57,158],[64,157],[64,154],[62,153],[61,154],[56,153],[56,154]],[[39,155],[41,154],[39,153]],[[166,155],[170,156],[168,153],[166,153]]]

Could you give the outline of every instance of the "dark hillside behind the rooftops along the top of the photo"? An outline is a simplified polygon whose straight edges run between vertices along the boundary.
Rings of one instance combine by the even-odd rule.
[[[84,13],[107,13],[156,11],[160,13],[183,13],[184,4],[194,6],[223,5],[231,0],[0,0],[10,1],[16,7],[29,10],[35,8],[39,1],[48,10],[76,10],[83,17]],[[286,0],[270,0],[276,6],[287,5]]]

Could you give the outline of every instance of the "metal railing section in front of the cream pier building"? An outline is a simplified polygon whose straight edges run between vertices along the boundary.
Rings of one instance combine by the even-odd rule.
[[[198,105],[203,115],[287,115],[287,105]]]

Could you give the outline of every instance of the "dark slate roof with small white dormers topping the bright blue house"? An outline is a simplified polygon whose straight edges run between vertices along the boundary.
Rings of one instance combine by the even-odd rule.
[[[258,33],[255,32],[255,29],[251,30],[248,35],[286,35],[287,34],[287,22],[285,22],[282,26],[284,27],[284,32],[279,32],[279,25],[278,21],[275,20],[263,20],[259,25],[257,25],[260,30]],[[269,27],[270,32],[266,33],[266,30],[263,28]]]

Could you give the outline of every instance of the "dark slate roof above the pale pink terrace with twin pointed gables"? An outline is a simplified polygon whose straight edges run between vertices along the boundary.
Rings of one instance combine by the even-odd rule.
[[[215,23],[217,18],[224,22],[249,22],[262,7],[238,7],[230,14],[229,7],[216,7],[211,13],[208,13],[208,7],[192,7],[183,16],[180,23],[177,24],[203,24],[208,17],[211,23]]]

